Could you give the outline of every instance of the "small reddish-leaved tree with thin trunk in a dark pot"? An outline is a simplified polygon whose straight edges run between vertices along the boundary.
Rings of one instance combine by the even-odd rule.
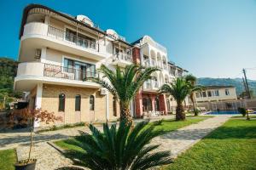
[[[33,125],[34,122],[49,122],[61,121],[61,116],[55,116],[53,112],[42,111],[41,109],[21,109],[13,111],[9,116],[9,126],[27,124],[30,127],[30,148],[26,160],[18,161],[15,164],[15,170],[34,170],[36,167],[36,159],[31,158],[33,144]]]

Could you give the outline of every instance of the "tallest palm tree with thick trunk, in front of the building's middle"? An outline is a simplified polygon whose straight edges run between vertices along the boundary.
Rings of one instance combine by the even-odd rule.
[[[102,65],[98,70],[103,75],[102,79],[93,78],[92,80],[102,85],[103,88],[107,88],[119,100],[120,120],[132,122],[130,114],[131,100],[143,86],[143,82],[151,78],[150,75],[154,71],[159,71],[159,69],[132,64],[125,66],[124,71],[121,71],[121,68],[117,65],[116,70],[112,71],[106,65]]]

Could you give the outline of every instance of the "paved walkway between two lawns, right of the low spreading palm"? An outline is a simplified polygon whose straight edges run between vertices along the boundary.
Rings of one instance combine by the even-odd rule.
[[[152,144],[160,144],[158,150],[171,150],[171,157],[176,158],[183,151],[199,142],[208,133],[226,122],[230,116],[215,116],[187,127],[179,128],[152,140]]]

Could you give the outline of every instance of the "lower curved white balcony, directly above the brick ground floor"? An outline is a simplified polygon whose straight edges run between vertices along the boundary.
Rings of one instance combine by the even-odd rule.
[[[98,84],[90,81],[90,77],[96,76],[96,72],[92,71],[39,62],[25,62],[18,65],[17,77],[15,77],[15,90],[31,91],[38,83],[100,88]]]

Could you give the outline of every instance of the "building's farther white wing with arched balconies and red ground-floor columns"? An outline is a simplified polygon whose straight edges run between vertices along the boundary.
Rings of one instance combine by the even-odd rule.
[[[158,90],[163,84],[173,82],[175,77],[182,77],[183,72],[187,71],[168,61],[167,49],[151,37],[144,36],[132,44],[135,45],[135,50],[140,48],[133,56],[135,62],[160,69],[154,72],[151,80],[144,82],[143,89],[137,94],[136,115],[143,116],[150,112],[167,114],[174,111],[176,104],[172,96],[160,94]]]

